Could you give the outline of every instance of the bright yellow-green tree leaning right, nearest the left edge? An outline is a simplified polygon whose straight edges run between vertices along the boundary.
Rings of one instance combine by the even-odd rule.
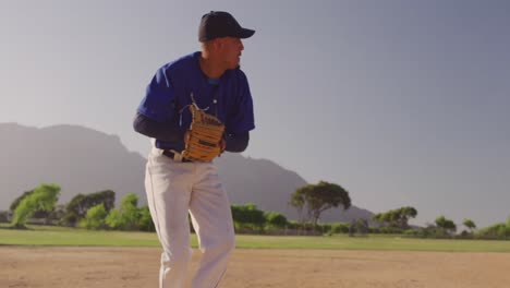
[[[60,187],[57,184],[40,184],[34,192],[25,196],[14,211],[12,226],[25,228],[26,220],[38,209],[51,212],[59,200]]]

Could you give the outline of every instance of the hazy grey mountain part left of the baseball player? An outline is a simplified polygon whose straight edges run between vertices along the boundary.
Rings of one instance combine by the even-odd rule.
[[[0,124],[0,209],[42,182],[61,187],[60,203],[77,193],[111,189],[142,194],[145,159],[116,135],[75,125]]]

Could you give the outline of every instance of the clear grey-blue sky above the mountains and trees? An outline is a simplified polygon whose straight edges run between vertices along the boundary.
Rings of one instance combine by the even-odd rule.
[[[211,10],[256,31],[244,156],[375,213],[413,206],[412,224],[510,216],[505,0],[2,0],[0,122],[84,125],[147,155],[136,107],[159,67],[199,50]]]

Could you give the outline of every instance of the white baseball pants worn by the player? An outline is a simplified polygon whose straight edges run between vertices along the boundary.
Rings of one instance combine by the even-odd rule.
[[[217,287],[232,252],[234,229],[230,203],[212,163],[178,163],[153,148],[145,189],[163,252],[160,288],[185,287],[192,250],[191,214],[198,237],[201,262],[192,288]]]

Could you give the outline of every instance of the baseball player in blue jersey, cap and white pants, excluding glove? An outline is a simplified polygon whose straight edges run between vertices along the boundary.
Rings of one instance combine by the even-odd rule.
[[[243,152],[255,128],[253,101],[245,74],[240,70],[242,38],[246,29],[227,12],[202,17],[202,52],[160,68],[147,87],[134,120],[138,133],[151,137],[145,188],[163,252],[160,288],[184,287],[191,260],[189,213],[197,233],[201,262],[193,288],[217,287],[234,248],[230,203],[212,161],[183,158],[195,105],[224,124],[220,145]]]

